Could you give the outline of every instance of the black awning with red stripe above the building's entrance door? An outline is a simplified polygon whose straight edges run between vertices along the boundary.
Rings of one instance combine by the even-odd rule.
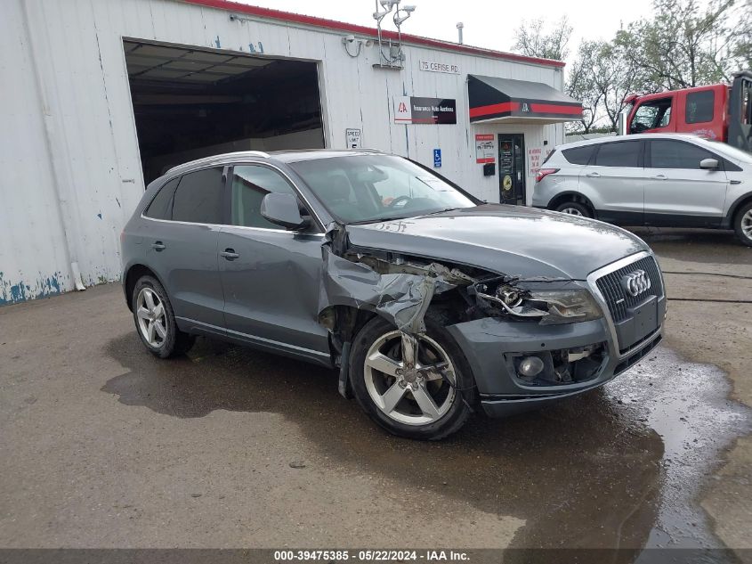
[[[467,94],[471,123],[558,123],[582,118],[581,102],[542,82],[468,75]]]

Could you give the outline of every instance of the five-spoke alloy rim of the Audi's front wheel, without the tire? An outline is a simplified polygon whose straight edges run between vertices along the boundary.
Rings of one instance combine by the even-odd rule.
[[[364,363],[368,395],[387,417],[407,425],[441,419],[455,401],[455,368],[447,352],[425,335],[382,335]]]

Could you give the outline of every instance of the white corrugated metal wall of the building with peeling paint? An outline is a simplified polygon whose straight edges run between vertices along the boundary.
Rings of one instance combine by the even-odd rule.
[[[417,17],[417,16],[416,16]],[[536,80],[562,88],[561,70],[408,45],[406,69],[374,69],[376,46],[344,51],[341,32],[279,21],[231,21],[230,12],[176,0],[9,0],[0,19],[0,305],[120,276],[119,233],[144,186],[123,37],[319,63],[327,146],[345,128],[363,146],[433,165],[488,200],[498,178],[475,164],[475,133],[524,133],[530,147],[562,143],[561,126],[470,126],[465,77]],[[461,74],[418,70],[420,60]],[[457,99],[457,126],[393,123],[395,95]],[[529,198],[532,188],[529,178]]]

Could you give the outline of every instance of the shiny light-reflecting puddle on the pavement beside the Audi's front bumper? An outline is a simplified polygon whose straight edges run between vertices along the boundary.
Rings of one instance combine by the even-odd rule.
[[[659,511],[646,547],[722,547],[696,499],[724,449],[752,431],[750,410],[728,398],[731,386],[716,366],[683,362],[664,347],[626,375],[608,384],[606,394],[664,445]]]

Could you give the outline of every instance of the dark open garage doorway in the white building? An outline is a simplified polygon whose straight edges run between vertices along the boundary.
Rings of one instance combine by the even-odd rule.
[[[324,147],[316,63],[123,42],[146,183],[230,151]]]

